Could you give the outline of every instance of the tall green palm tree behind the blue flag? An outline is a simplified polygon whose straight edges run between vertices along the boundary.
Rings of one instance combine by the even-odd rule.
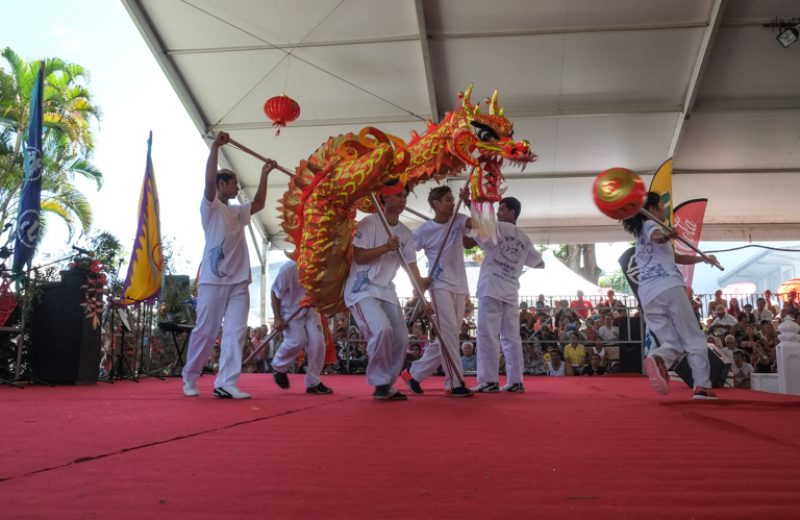
[[[28,126],[30,96],[39,62],[26,62],[3,49],[8,70],[0,68],[0,228],[16,217],[22,189],[22,144]],[[100,111],[84,85],[88,72],[59,58],[44,63],[42,210],[62,218],[72,239],[92,225],[92,209],[75,187],[76,175],[93,179],[99,190],[103,174],[90,162],[94,148],[90,122]],[[45,214],[46,214],[45,213]],[[45,214],[42,215],[44,225]]]

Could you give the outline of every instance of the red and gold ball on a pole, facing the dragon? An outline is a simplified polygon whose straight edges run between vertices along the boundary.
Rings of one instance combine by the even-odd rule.
[[[646,194],[642,178],[627,168],[602,171],[592,184],[592,198],[597,209],[616,220],[636,215]]]

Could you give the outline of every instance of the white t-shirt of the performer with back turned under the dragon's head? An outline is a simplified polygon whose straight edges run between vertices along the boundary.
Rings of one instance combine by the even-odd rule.
[[[475,237],[475,241],[484,251],[478,276],[478,298],[489,296],[517,305],[522,267],[537,266],[542,255],[522,230],[508,222],[497,223],[497,244],[480,237]]]

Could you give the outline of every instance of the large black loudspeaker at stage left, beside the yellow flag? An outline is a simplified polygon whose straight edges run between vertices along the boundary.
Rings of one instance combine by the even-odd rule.
[[[47,383],[94,383],[100,370],[100,327],[84,315],[86,274],[64,271],[41,286],[34,302],[30,360],[34,379]]]

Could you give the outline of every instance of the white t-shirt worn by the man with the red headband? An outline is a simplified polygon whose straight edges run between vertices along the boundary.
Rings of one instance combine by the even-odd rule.
[[[400,239],[400,253],[409,264],[417,261],[417,246],[411,230],[398,222],[390,226],[392,234]],[[379,215],[369,215],[358,223],[353,245],[362,249],[382,246],[389,240]],[[344,303],[352,307],[359,300],[367,297],[377,298],[391,303],[398,303],[394,290],[394,275],[400,267],[397,252],[389,252],[369,264],[359,264],[353,260],[350,275],[344,286]]]

